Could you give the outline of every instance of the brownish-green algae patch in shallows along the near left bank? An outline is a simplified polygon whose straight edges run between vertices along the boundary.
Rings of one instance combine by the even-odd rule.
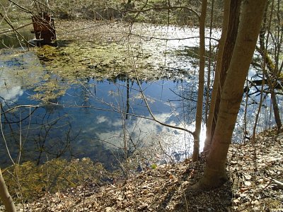
[[[3,175],[14,198],[22,195],[22,200],[32,201],[45,192],[64,191],[81,185],[86,180],[101,184],[105,177],[112,177],[113,174],[107,172],[101,163],[93,163],[89,158],[83,158],[71,162],[54,159],[39,166],[26,162],[6,168]],[[18,198],[16,201],[20,200]]]

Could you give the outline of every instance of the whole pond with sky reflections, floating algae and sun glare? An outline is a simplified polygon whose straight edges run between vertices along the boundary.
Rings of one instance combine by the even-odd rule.
[[[125,153],[143,163],[187,157],[192,136],[158,122],[194,129],[197,30],[146,25],[132,34],[131,42],[108,33],[99,42],[1,49],[1,164],[87,157],[114,169]],[[144,39],[137,42],[136,34]],[[257,110],[253,102],[258,96],[248,98],[248,116]],[[269,102],[267,96],[259,131],[272,124]],[[244,105],[245,97],[233,137],[238,142]],[[250,131],[253,119],[246,124]]]

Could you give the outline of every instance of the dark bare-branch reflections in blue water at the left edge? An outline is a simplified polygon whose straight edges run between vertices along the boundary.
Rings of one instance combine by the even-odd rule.
[[[0,146],[5,151],[1,154],[1,164],[11,164],[5,157],[8,152],[14,162],[35,160],[37,165],[65,153],[72,155],[70,145],[77,134],[72,135],[67,114],[61,114],[58,108],[2,105],[1,114]]]

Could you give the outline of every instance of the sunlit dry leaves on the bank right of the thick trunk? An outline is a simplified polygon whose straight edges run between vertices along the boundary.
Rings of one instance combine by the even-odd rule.
[[[283,211],[283,134],[259,134],[255,143],[231,146],[232,209]]]

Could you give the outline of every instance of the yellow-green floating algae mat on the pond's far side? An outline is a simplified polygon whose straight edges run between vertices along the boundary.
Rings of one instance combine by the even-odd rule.
[[[129,52],[127,45],[114,42],[73,42],[66,47],[44,46],[35,49],[35,52],[47,72],[71,82],[77,78],[115,78],[121,73],[129,78],[136,78],[136,73],[139,78],[154,78],[160,74],[150,66],[155,60],[151,59],[151,52],[144,52],[137,45],[133,45],[132,52]],[[135,70],[133,59],[137,64]]]

